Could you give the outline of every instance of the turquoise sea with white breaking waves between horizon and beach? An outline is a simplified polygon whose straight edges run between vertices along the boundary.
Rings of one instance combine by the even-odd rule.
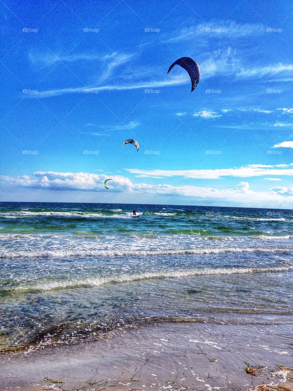
[[[293,211],[0,203],[2,349],[154,321],[293,323]]]

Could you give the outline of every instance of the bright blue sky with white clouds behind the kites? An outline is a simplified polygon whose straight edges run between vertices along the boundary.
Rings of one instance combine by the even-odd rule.
[[[1,200],[293,207],[289,2],[1,14]],[[201,68],[192,93],[184,69],[167,75],[183,56]]]

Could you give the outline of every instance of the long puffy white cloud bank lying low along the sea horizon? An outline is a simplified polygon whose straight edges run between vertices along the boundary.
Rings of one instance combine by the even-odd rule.
[[[0,176],[0,183],[5,188],[29,188],[34,190],[71,190],[85,192],[109,192],[108,194],[125,192],[141,197],[156,196],[157,202],[163,196],[180,197],[196,204],[222,204],[234,206],[293,206],[293,188],[274,187],[269,192],[254,192],[248,182],[240,182],[236,188],[217,189],[197,186],[171,186],[167,184],[149,185],[132,183],[123,176],[112,176],[111,190],[105,190],[103,183],[108,176],[103,174],[70,173],[70,172],[35,172],[34,178],[29,176]],[[23,190],[21,190],[23,191]],[[164,198],[162,198],[164,200]]]

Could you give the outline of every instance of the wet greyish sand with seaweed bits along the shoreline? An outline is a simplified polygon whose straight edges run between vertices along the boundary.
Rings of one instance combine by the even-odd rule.
[[[0,390],[293,389],[293,326],[155,323],[0,356]],[[257,376],[246,372],[263,366]],[[44,380],[45,379],[45,380]],[[283,387],[286,387],[284,389]]]

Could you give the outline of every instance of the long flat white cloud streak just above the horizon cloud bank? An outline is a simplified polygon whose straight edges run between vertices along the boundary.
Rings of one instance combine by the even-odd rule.
[[[192,179],[220,179],[223,177],[249,178],[256,176],[291,176],[293,175],[292,164],[282,165],[247,165],[232,169],[202,169],[202,170],[140,170],[125,169],[134,175],[144,175],[148,177],[175,177]]]

